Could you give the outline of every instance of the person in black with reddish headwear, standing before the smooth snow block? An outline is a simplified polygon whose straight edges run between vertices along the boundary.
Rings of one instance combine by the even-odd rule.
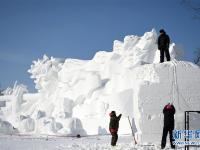
[[[175,110],[174,106],[170,103],[168,103],[163,109],[164,127],[163,127],[161,149],[165,148],[168,132],[169,132],[171,148],[173,148],[173,149],[175,148],[175,145],[173,145],[174,139],[172,136],[172,131],[174,130],[174,114],[175,114],[175,112],[176,112],[176,110]]]

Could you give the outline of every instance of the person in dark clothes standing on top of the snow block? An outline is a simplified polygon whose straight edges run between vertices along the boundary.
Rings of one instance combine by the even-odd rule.
[[[160,36],[158,37],[158,49],[160,50],[160,63],[164,62],[164,54],[166,55],[167,61],[170,61],[170,54],[169,54],[169,44],[170,38],[166,34],[166,32],[161,29]]]

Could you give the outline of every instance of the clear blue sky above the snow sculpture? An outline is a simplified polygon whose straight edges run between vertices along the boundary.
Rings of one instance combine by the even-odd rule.
[[[200,47],[200,21],[181,0],[0,0],[0,84],[34,91],[27,70],[44,54],[91,59],[114,40],[164,28],[185,60]]]

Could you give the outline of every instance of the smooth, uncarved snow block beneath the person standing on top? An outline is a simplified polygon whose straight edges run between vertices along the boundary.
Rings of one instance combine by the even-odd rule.
[[[184,129],[184,111],[200,108],[198,66],[188,62],[173,61],[157,64],[154,69],[159,82],[141,84],[138,92],[139,128],[142,142],[161,140],[162,110],[167,103],[173,103],[176,108],[175,129]],[[198,119],[195,121],[200,122]]]

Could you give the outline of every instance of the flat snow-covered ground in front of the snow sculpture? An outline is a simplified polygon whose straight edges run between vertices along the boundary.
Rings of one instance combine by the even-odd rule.
[[[119,136],[116,147],[110,146],[111,136],[41,137],[41,136],[0,136],[1,150],[160,150],[160,145],[135,145],[131,136]],[[171,148],[166,146],[167,150]],[[183,150],[184,147],[177,149]],[[198,150],[191,148],[191,150]]]

